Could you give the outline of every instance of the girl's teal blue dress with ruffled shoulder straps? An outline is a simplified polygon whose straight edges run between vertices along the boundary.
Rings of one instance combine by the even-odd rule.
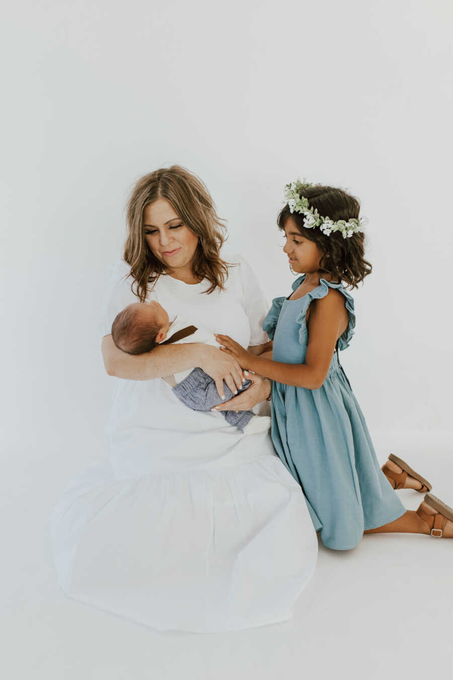
[[[305,275],[293,283],[302,284]],[[342,284],[320,279],[319,286],[297,300],[278,297],[263,322],[274,341],[272,358],[303,364],[308,344],[306,313],[312,300],[329,288],[344,295],[348,327],[337,348],[348,347],[354,333],[352,296]],[[316,531],[329,548],[358,545],[363,531],[396,520],[406,511],[380,469],[363,413],[334,352],[329,373],[318,390],[272,381],[272,441],[276,452],[300,483]]]

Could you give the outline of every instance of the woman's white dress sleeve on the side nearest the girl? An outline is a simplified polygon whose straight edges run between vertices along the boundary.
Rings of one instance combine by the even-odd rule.
[[[261,290],[255,272],[249,262],[242,256],[236,255],[234,262],[239,262],[240,280],[242,292],[244,294],[244,309],[249,317],[250,323],[250,343],[253,345],[264,345],[269,342],[269,336],[262,328],[263,320],[270,309],[270,303],[266,300],[264,292]]]

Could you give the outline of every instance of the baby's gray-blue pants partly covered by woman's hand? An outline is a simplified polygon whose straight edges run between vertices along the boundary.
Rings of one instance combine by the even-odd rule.
[[[247,390],[251,384],[251,380],[245,381],[242,388],[238,390],[238,394]],[[237,396],[237,394],[233,394],[225,381],[223,381],[223,387],[225,388],[224,401]],[[183,404],[188,406],[189,409],[194,409],[194,411],[211,411],[213,406],[223,403],[219,394],[217,394],[217,388],[211,376],[199,368],[194,369],[172,389]],[[219,413],[223,415],[226,422],[240,430],[244,430],[249,420],[255,415],[253,411],[238,411],[238,413],[236,411],[219,411]]]

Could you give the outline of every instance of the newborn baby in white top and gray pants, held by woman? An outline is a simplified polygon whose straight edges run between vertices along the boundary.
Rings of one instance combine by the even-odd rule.
[[[166,340],[168,332],[170,338]],[[191,326],[182,319],[175,318],[172,322],[168,313],[156,301],[149,303],[132,303],[115,317],[111,327],[111,335],[115,345],[128,354],[144,354],[151,352],[156,345],[163,343],[200,342],[206,345],[220,347],[212,333]],[[196,367],[187,371],[175,373],[173,392],[189,408],[195,411],[211,411],[213,406],[219,403],[219,394],[215,387],[215,381]],[[238,394],[247,390],[251,381],[247,380]],[[225,384],[225,397],[231,399],[235,396],[228,385]],[[235,425],[244,435],[254,432],[263,432],[270,427],[270,418],[267,415],[255,415],[253,411],[220,411],[230,425]]]

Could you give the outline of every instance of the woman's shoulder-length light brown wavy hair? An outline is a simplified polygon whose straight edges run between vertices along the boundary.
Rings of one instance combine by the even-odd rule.
[[[123,259],[130,265],[134,279],[132,292],[145,302],[149,284],[156,282],[165,271],[165,265],[153,256],[143,228],[143,210],[158,199],[166,199],[185,226],[198,236],[192,271],[200,281],[206,278],[211,282],[203,292],[224,290],[228,267],[236,265],[224,262],[219,255],[228,239],[225,220],[217,216],[213,199],[200,178],[180,165],[172,165],[143,175],[128,200]]]

